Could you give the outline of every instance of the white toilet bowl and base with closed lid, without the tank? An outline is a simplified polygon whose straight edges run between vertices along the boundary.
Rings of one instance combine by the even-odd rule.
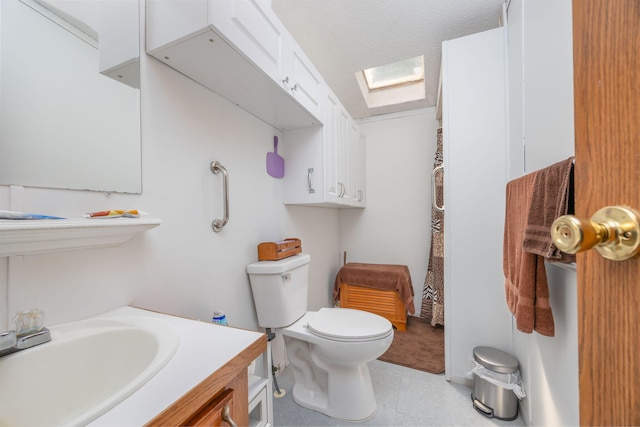
[[[348,421],[376,413],[367,364],[391,345],[391,322],[366,311],[321,308],[277,331],[293,367],[297,404]]]

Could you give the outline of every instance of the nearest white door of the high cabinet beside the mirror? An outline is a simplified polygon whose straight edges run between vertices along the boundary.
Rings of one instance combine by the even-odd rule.
[[[280,81],[287,32],[268,2],[210,0],[209,20],[263,72]]]

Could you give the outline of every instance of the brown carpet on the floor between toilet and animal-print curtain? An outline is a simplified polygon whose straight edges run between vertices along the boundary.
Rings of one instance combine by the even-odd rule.
[[[378,359],[420,371],[444,372],[444,328],[434,328],[419,317],[409,316],[407,330],[394,331],[389,350]]]

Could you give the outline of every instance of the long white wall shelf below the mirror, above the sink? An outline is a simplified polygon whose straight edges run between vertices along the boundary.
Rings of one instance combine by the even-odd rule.
[[[0,257],[115,246],[161,223],[156,218],[0,220]]]

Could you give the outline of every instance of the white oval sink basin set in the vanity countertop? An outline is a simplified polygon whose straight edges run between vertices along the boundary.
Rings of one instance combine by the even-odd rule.
[[[50,330],[50,342],[0,358],[0,426],[86,425],[158,373],[180,341],[143,316]]]

